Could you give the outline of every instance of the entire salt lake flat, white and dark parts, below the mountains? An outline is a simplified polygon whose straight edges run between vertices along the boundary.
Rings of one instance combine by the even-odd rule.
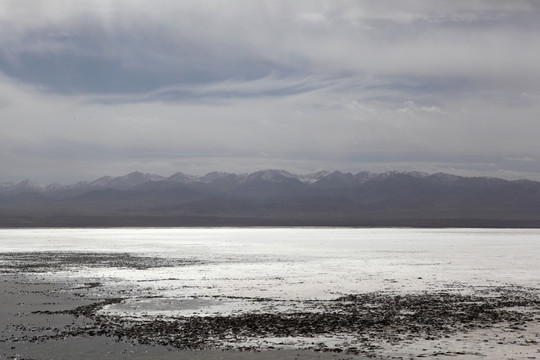
[[[539,263],[538,229],[2,229],[0,349],[528,359]]]

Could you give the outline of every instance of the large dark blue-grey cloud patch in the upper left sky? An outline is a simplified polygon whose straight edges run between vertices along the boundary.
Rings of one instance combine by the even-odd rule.
[[[125,94],[178,83],[256,78],[274,68],[264,59],[224,58],[212,45],[195,40],[171,44],[158,29],[108,34],[103,29],[78,28],[73,34],[53,37],[53,41],[51,31],[45,29],[18,40],[40,44],[38,47],[0,52],[0,69],[12,78],[57,93]]]

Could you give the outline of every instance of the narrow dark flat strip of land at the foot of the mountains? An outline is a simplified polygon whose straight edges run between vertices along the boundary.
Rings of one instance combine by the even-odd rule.
[[[212,216],[212,215],[159,215],[96,213],[48,213],[34,210],[21,212],[0,209],[0,228],[94,228],[94,227],[416,227],[416,228],[540,228],[537,215],[523,214],[470,214],[452,213],[411,214],[410,212],[361,212],[318,216],[291,214],[269,216]]]

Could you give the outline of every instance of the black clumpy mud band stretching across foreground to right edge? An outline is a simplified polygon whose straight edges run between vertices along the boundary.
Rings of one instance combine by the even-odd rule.
[[[483,289],[473,295],[446,292],[354,294],[333,301],[304,302],[303,308],[309,307],[309,311],[287,313],[248,312],[234,316],[158,317],[151,320],[100,313],[105,306],[121,302],[120,298],[111,298],[72,310],[41,313],[70,314],[92,320],[92,325],[60,332],[55,337],[105,335],[181,350],[268,350],[291,344],[291,339],[302,338],[303,349],[354,355],[373,354],[381,342],[435,340],[457,332],[486,329],[498,323],[519,329],[538,321],[540,313],[538,290],[515,287]],[[321,341],[321,338],[336,337],[348,340],[337,345]],[[269,338],[274,342],[265,341]],[[306,339],[313,341],[306,345]]]

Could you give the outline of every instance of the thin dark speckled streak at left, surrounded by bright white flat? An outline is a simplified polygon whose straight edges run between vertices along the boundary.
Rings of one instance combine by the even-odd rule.
[[[201,264],[198,259],[137,256],[98,252],[14,252],[0,253],[0,273],[39,273],[77,267],[128,268],[146,270]]]

